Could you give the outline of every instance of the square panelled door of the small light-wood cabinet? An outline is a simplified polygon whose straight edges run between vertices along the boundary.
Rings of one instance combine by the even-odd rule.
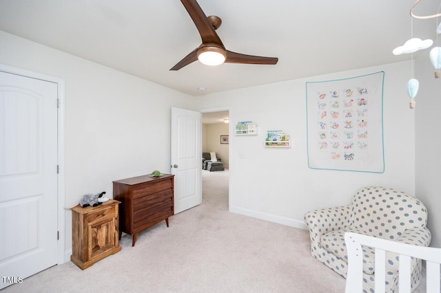
[[[108,219],[88,226],[89,260],[116,245],[116,219]]]

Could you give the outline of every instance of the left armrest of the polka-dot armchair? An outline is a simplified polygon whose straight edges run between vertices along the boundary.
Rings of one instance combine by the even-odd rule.
[[[323,234],[334,230],[346,228],[352,223],[351,206],[338,206],[335,208],[320,208],[305,213],[305,224],[309,229],[311,239],[311,254],[317,258],[320,238]]]

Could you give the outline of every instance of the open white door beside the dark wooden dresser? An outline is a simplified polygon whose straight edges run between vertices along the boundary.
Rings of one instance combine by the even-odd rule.
[[[172,107],[174,213],[202,203],[202,114]]]

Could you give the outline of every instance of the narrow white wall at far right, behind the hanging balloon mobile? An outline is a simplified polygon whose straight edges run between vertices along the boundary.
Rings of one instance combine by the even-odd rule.
[[[415,77],[420,81],[416,96],[416,191],[429,211],[427,227],[431,246],[441,247],[441,199],[438,180],[441,176],[441,78],[434,78],[429,50],[416,62]]]

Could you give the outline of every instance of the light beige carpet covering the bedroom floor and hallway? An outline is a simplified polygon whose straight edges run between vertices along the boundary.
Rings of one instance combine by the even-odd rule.
[[[9,292],[344,292],[345,279],[309,254],[309,234],[228,212],[228,171],[203,171],[203,204],[132,237],[86,270],[73,263]]]

